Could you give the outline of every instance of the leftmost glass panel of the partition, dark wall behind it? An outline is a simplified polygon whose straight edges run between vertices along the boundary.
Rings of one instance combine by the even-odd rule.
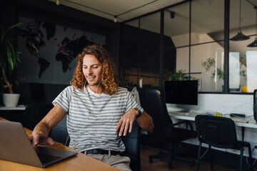
[[[121,40],[122,80],[130,86],[158,86],[160,12],[123,24]]]

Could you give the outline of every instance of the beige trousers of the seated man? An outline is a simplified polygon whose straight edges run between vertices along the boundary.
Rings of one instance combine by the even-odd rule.
[[[107,165],[116,167],[119,170],[131,171],[131,168],[129,167],[129,163],[131,160],[129,157],[120,155],[88,155],[96,160],[106,163]]]

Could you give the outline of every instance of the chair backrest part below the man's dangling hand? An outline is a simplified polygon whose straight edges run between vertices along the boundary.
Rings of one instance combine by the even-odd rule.
[[[140,158],[140,145],[141,145],[141,128],[138,123],[133,122],[133,128],[131,133],[127,133],[126,136],[121,137],[126,151],[121,155],[125,155],[131,159],[130,167],[133,171],[141,170],[141,158]]]

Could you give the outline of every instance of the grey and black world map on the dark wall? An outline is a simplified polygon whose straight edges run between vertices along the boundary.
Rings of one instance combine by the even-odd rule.
[[[33,40],[39,53],[29,45],[19,43],[21,65],[18,71],[20,82],[69,84],[76,56],[85,46],[105,46],[106,36],[81,31],[45,21],[19,17],[21,31]]]

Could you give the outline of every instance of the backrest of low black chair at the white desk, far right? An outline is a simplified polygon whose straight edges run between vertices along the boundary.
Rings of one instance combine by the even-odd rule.
[[[235,123],[230,118],[196,115],[195,121],[200,142],[231,148],[237,141]]]

